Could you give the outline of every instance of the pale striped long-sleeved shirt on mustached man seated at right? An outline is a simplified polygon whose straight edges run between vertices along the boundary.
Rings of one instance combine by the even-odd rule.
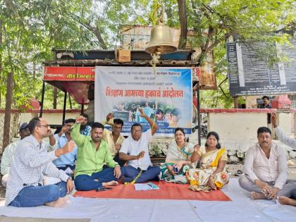
[[[259,143],[249,147],[244,165],[247,178],[275,183],[275,187],[283,188],[288,179],[287,156],[283,147],[271,142],[269,159],[264,154]]]

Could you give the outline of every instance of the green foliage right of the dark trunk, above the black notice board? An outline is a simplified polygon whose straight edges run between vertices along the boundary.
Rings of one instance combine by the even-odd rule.
[[[233,99],[228,90],[226,40],[235,37],[250,48],[257,42],[265,42],[264,51],[258,51],[266,62],[274,63],[274,43],[288,44],[290,35],[281,32],[295,25],[295,1],[290,0],[191,0],[187,1],[188,28],[193,30],[191,45],[202,53],[197,61],[206,60],[206,54],[214,50],[215,73],[218,90],[201,93],[203,107],[230,108]],[[242,98],[239,99],[242,103]]]

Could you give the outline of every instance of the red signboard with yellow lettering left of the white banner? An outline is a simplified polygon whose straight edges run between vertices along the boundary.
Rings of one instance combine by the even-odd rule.
[[[94,67],[46,66],[43,80],[94,81]]]

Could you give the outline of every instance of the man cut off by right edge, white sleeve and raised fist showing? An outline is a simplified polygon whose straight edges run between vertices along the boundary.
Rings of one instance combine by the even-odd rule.
[[[278,136],[278,140],[280,140],[280,142],[283,142],[287,146],[295,149],[296,148],[296,140],[294,138],[288,137],[287,135],[285,135],[283,133],[282,130],[280,130],[280,128],[278,127],[278,124],[277,124],[277,118],[276,118],[275,113],[271,113],[271,123],[273,125],[273,128],[276,129],[276,135]],[[294,189],[291,192],[291,198],[285,197],[285,196],[280,196],[280,197],[278,197],[278,199],[279,199],[280,204],[287,204],[287,205],[296,206],[296,183],[295,183]]]

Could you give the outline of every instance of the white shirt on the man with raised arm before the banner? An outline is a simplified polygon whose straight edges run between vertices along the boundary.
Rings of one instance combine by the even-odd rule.
[[[149,166],[152,166],[148,150],[148,142],[151,139],[151,137],[152,131],[151,129],[149,129],[146,132],[142,132],[140,140],[134,140],[132,138],[132,135],[129,135],[129,137],[123,141],[120,152],[132,156],[137,156],[137,154],[139,154],[142,151],[145,152],[143,158],[128,161],[128,165],[133,166],[135,168],[141,168],[144,171],[147,171],[147,168]]]

